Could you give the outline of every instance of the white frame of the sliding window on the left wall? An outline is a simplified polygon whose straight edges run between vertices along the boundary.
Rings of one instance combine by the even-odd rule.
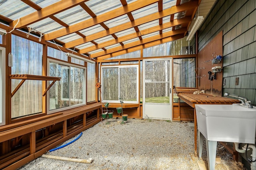
[[[62,107],[62,108],[58,108],[58,109],[52,109],[52,110],[50,110],[50,98],[49,98],[49,90],[48,90],[48,92],[47,92],[47,114],[52,114],[52,113],[56,113],[56,112],[58,112],[58,111],[64,111],[64,110],[67,110],[67,109],[72,109],[72,108],[75,108],[75,107],[80,107],[80,106],[85,106],[86,105],[86,92],[87,92],[87,90],[86,90],[86,82],[87,82],[87,80],[86,80],[86,72],[87,72],[87,68],[86,67],[84,67],[84,66],[79,66],[79,65],[76,65],[76,64],[71,64],[71,63],[66,63],[66,62],[62,62],[62,61],[59,61],[59,60],[54,60],[54,59],[50,59],[50,58],[48,58],[47,59],[47,76],[50,76],[50,62],[52,62],[52,63],[57,63],[57,64],[62,64],[62,65],[65,65],[65,66],[68,66],[69,67],[69,83],[71,82],[71,80],[70,80],[70,77],[71,77],[71,69],[70,69],[70,67],[76,67],[76,68],[82,68],[82,69],[84,69],[84,77],[83,77],[83,80],[84,80],[84,82],[83,82],[83,103],[82,104],[77,104],[77,105],[70,105],[70,101],[72,100],[72,99],[70,99],[69,98],[69,106],[67,106],[67,107]],[[47,85],[49,86],[49,84],[50,84],[50,82],[47,82]],[[70,85],[69,85],[69,92],[70,92]],[[62,94],[61,94],[62,95]],[[69,94],[69,96],[70,96],[70,94]],[[61,98],[62,98],[62,96],[61,96]]]

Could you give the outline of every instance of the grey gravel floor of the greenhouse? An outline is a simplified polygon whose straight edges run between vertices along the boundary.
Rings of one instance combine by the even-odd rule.
[[[74,143],[46,154],[89,159],[91,164],[39,157],[19,170],[199,170],[207,165],[204,143],[202,159],[194,156],[194,127],[186,122],[109,119],[87,129]],[[77,137],[77,136],[76,136]],[[66,141],[68,143],[76,137]],[[62,145],[64,145],[63,143]],[[221,145],[218,144],[217,148]],[[216,170],[243,170],[225,149],[218,149]]]

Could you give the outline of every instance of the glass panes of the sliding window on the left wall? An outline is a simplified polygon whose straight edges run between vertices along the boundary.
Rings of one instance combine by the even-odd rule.
[[[85,68],[51,59],[48,60],[48,68],[49,76],[61,77],[60,81],[56,81],[49,90],[48,110],[86,103]]]

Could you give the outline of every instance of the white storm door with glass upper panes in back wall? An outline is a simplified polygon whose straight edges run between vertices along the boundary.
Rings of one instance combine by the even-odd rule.
[[[171,67],[172,59],[143,61],[143,118],[172,117]]]

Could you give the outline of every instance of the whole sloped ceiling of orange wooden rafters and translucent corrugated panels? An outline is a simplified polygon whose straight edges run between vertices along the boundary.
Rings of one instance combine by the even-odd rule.
[[[104,60],[184,37],[208,1],[0,0],[0,22]]]

